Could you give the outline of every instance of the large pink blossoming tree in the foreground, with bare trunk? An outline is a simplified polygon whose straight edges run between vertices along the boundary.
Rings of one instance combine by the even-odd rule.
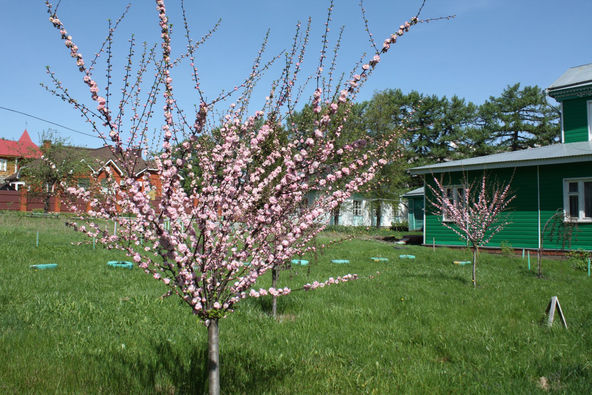
[[[305,84],[298,86],[297,79],[304,62],[310,20],[304,29],[297,24],[294,42],[283,58],[275,56],[267,63],[262,62],[266,38],[250,75],[226,93],[206,99],[195,59],[198,47],[217,25],[201,40],[192,40],[181,1],[186,50],[173,57],[172,24],[164,1],[156,0],[162,37],[160,49],[144,44],[133,73],[136,41],[134,37],[129,40],[124,84],[115,99],[110,88],[111,44],[127,9],[119,20],[110,23],[107,39],[89,62],[57,18],[57,7],[49,2],[46,5],[50,23],[59,30],[95,103],[86,105],[71,97],[49,68],[53,86],[46,89],[79,110],[105,144],[110,144],[114,155],[118,155],[117,166],[124,180],[122,185],[114,182],[107,168],[110,192],[104,198],[69,188],[70,194],[83,198],[91,206],[89,213],[81,213],[86,223],[72,225],[88,236],[98,237],[107,248],[125,251],[140,268],[168,287],[166,295],[181,297],[204,322],[208,329],[210,394],[218,394],[218,320],[233,311],[243,298],[289,294],[289,288],[256,289],[255,285],[266,271],[287,264],[293,256],[312,251],[314,246],[308,243],[324,229],[323,221],[328,213],[370,181],[387,160],[397,159],[382,158],[385,149],[397,141],[395,134],[381,139],[337,141],[352,100],[381,62],[381,56],[413,25],[423,21],[419,20],[418,12],[387,37],[381,48],[370,35],[375,53],[368,62],[359,62],[344,80],[343,75],[337,78],[335,72],[339,41],[332,57],[327,55],[331,4],[318,66]],[[108,55],[104,94],[92,76],[101,53]],[[262,73],[279,59],[284,65],[281,75],[272,84],[260,109],[249,112],[253,87]],[[189,63],[200,102],[191,117],[178,107],[173,91],[173,70],[182,63]],[[152,81],[144,84],[149,67],[155,70],[154,77],[150,74]],[[314,116],[310,129],[300,130],[291,115],[304,95],[306,83],[314,85],[310,100]],[[220,113],[221,101],[232,97],[236,98]],[[163,109],[162,147],[153,160],[162,191],[159,191],[160,204],[155,207],[150,203],[148,179],[136,181],[135,175],[141,159],[138,153],[150,149],[149,120],[155,115],[157,102],[161,102]],[[288,143],[275,140],[279,126],[288,129],[291,136]],[[253,158],[262,157],[262,146],[267,139],[274,139],[271,144],[274,148],[266,150],[263,160],[257,160],[255,166]],[[189,185],[189,192],[182,188],[181,173],[188,177],[185,186]],[[315,199],[303,208],[300,203],[309,192],[314,192]],[[134,220],[122,214],[133,216]],[[120,232],[115,235],[100,229],[96,219],[117,221]],[[356,277],[345,274],[305,284],[303,289],[313,290]]]

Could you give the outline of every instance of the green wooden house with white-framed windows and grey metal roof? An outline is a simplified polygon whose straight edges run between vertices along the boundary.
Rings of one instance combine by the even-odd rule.
[[[537,249],[545,223],[557,210],[563,210],[580,229],[571,248],[592,251],[592,63],[567,70],[549,86],[548,94],[561,103],[562,143],[411,169],[411,174],[423,175],[427,194],[424,244],[466,244],[444,226],[441,215],[430,210],[427,185],[435,185],[434,177],[440,179],[444,173],[447,194],[457,200],[464,193],[463,172],[469,181],[480,178],[485,169],[491,176],[509,181],[515,168],[511,224],[487,247],[497,248],[507,240],[514,248]],[[545,249],[561,249],[561,242],[551,241],[549,232],[542,238]]]

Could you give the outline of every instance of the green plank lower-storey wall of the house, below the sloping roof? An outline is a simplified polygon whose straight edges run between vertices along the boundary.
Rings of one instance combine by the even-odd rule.
[[[497,176],[500,181],[508,181],[513,168],[491,169],[488,173],[491,179]],[[558,208],[564,207],[563,178],[592,177],[592,162],[565,163],[560,165],[539,166],[540,175],[540,229],[545,222],[555,214]],[[482,171],[467,172],[469,181],[481,178]],[[440,178],[440,174],[435,174]],[[513,210],[510,214],[511,223],[502,232],[494,236],[488,246],[497,247],[502,240],[508,240],[514,248],[536,249],[539,246],[539,211],[538,211],[538,177],[537,166],[523,166],[516,168],[511,182],[516,198],[512,201]],[[425,176],[426,185],[435,187],[431,174]],[[462,172],[445,174],[446,185],[462,184]],[[466,245],[456,233],[442,224],[442,217],[433,213],[429,204],[432,191],[426,186],[426,226],[424,233],[426,243],[432,243],[433,238],[439,245]],[[577,240],[572,240],[572,248],[592,250],[592,223],[579,223],[580,232]],[[561,248],[561,243],[551,242],[549,232],[545,233],[545,248]]]

